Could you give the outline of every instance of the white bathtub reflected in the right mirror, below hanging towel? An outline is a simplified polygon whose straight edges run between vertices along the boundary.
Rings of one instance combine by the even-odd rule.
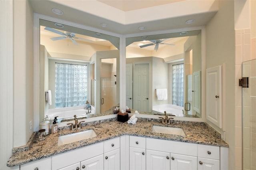
[[[152,111],[158,112],[158,113],[164,113],[164,111],[166,111],[166,113],[171,113],[172,115],[176,115],[179,117],[184,116],[183,115],[183,107],[171,105],[171,104],[153,106]]]

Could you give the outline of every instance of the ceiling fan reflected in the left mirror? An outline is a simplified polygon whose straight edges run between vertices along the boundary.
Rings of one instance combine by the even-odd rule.
[[[84,39],[84,38],[77,38],[76,37],[76,34],[73,33],[73,32],[67,32],[67,31],[64,31],[64,32],[60,32],[58,30],[55,30],[53,28],[49,28],[49,27],[46,27],[44,28],[44,30],[48,30],[50,32],[54,32],[56,34],[60,34],[62,35],[61,37],[53,37],[53,38],[50,38],[52,41],[56,41],[56,40],[63,40],[63,39],[70,39],[75,45],[78,45],[77,42],[74,40],[74,39],[79,39],[79,40],[85,40],[85,41],[92,41],[92,40],[88,40],[88,39]]]

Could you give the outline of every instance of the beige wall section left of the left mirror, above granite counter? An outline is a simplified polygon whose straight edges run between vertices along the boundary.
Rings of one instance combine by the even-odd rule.
[[[28,1],[14,5],[14,134],[13,145],[27,143],[33,132],[33,12]]]

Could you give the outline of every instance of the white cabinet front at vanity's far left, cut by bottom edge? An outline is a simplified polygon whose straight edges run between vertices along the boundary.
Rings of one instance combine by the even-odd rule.
[[[24,165],[20,165],[20,170],[50,170],[52,158],[44,158]]]

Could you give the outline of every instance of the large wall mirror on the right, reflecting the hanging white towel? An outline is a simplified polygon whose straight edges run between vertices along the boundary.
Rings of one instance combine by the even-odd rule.
[[[201,30],[126,38],[126,105],[202,118],[201,71]]]

